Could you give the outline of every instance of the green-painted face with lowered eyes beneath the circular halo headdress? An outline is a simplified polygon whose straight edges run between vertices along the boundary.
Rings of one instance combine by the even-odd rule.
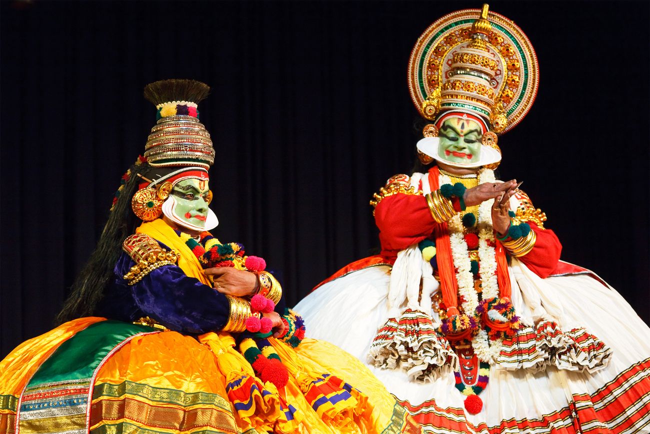
[[[449,163],[476,163],[481,157],[481,127],[475,120],[449,118],[438,133],[438,157]]]

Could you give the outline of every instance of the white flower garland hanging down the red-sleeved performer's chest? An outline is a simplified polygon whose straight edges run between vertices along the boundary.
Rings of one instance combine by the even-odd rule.
[[[439,185],[450,184],[451,179],[445,174],[439,174]],[[478,184],[495,182],[494,172],[489,169],[482,169],[478,172]],[[486,200],[478,206],[478,260],[480,261],[481,288],[484,299],[499,297],[499,280],[497,278],[497,256],[494,247],[488,245],[488,241],[494,244],[492,228],[492,202]],[[471,314],[478,307],[478,293],[474,290],[474,275],[471,272],[471,261],[467,251],[467,242],[463,234],[463,223],[460,213],[457,213],[447,222],[449,230],[449,241],[451,245],[452,259],[458,282],[458,293],[463,297],[463,310]],[[472,339],[472,347],[476,357],[482,362],[493,363],[497,360],[501,351],[503,339],[499,338],[489,343],[487,332],[480,329]]]

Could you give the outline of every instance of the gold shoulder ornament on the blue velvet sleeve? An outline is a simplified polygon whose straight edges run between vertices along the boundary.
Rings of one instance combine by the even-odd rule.
[[[127,252],[135,265],[124,275],[127,284],[135,285],[151,271],[162,265],[174,265],[179,254],[174,250],[166,251],[158,241],[145,234],[133,234],[122,243],[123,251]]]

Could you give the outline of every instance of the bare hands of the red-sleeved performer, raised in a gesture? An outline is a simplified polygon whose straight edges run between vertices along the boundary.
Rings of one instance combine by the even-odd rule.
[[[481,204],[494,199],[492,206],[492,227],[499,234],[505,234],[510,226],[510,197],[517,190],[517,180],[506,182],[485,182],[465,190],[463,200],[466,206]]]

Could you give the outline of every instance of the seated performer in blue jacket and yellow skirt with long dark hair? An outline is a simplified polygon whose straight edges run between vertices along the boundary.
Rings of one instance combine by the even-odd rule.
[[[208,92],[145,88],[157,123],[64,322],[0,362],[0,432],[421,432],[356,358],[304,338],[262,258],[207,232]]]

